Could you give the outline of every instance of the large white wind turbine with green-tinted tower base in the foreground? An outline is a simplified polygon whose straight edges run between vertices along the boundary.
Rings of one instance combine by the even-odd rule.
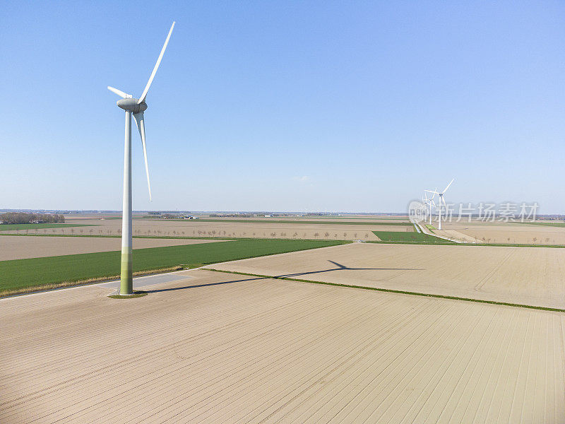
[[[149,87],[155,78],[155,73],[157,68],[161,63],[163,54],[165,54],[165,49],[167,44],[169,44],[169,38],[172,34],[172,29],[174,28],[174,22],[171,25],[169,34],[167,35],[167,40],[165,40],[165,45],[161,49],[161,53],[157,59],[157,63],[151,72],[149,81],[141,93],[141,97],[136,99],[133,95],[124,93],[117,88],[108,86],[108,90],[112,93],[116,93],[121,97],[116,104],[121,107],[121,109],[126,111],[126,143],[124,148],[124,203],[122,207],[121,215],[121,272],[120,272],[120,285],[119,294],[120,295],[131,295],[133,294],[133,271],[131,266],[131,114],[133,118],[136,119],[137,128],[139,130],[139,135],[141,136],[141,145],[143,146],[143,158],[145,159],[145,174],[147,175],[147,187],[149,189],[149,200],[151,201],[151,185],[149,183],[149,167],[147,164],[147,149],[145,148],[145,120],[143,119],[143,112],[147,110],[147,103],[145,103],[145,97],[149,91]]]

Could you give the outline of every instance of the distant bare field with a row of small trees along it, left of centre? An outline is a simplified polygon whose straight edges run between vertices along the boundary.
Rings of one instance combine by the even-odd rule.
[[[67,220],[67,223],[73,223]],[[37,234],[117,235],[121,220],[80,220],[82,225],[93,227],[49,228],[37,230]],[[134,219],[133,235],[182,236],[182,237],[256,237],[256,238],[300,238],[318,240],[379,240],[371,230],[414,231],[407,225],[344,225],[335,224],[280,224],[280,223],[233,223],[199,222],[198,220],[152,220]],[[13,233],[15,231],[11,231]],[[25,234],[26,230],[18,230]],[[326,232],[328,235],[326,236]],[[29,230],[35,234],[35,230]],[[275,234],[273,236],[273,234]],[[317,234],[317,235],[316,235]]]

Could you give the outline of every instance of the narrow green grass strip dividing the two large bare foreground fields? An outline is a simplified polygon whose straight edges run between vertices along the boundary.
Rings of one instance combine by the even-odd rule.
[[[525,307],[527,309],[533,309],[533,310],[542,310],[542,311],[551,311],[551,312],[565,312],[565,309],[559,309],[557,307],[523,305],[522,303],[509,303],[509,302],[497,302],[496,300],[481,300],[481,299],[472,299],[472,298],[460,298],[458,296],[449,296],[449,295],[433,295],[433,294],[430,294],[430,293],[418,293],[418,292],[412,292],[412,291],[406,291],[406,290],[394,290],[392,288],[366,287],[364,285],[352,285],[352,284],[328,283],[326,281],[303,280],[302,278],[290,278],[290,277],[280,277],[280,276],[263,276],[261,274],[237,272],[237,271],[225,271],[225,270],[222,270],[222,269],[213,269],[213,268],[203,268],[203,269],[205,269],[206,271],[232,273],[232,274],[237,274],[237,275],[241,275],[241,276],[250,276],[250,277],[258,277],[258,278],[271,278],[273,280],[298,281],[299,283],[335,285],[336,287],[345,287],[345,288],[360,288],[362,290],[374,290],[374,291],[379,291],[379,292],[384,292],[384,293],[396,293],[396,294],[399,294],[399,295],[423,296],[424,298],[464,300],[465,302],[487,303],[489,305]]]

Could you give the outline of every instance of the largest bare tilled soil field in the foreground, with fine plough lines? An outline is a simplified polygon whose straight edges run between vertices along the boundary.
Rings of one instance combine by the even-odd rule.
[[[177,275],[0,300],[0,422],[565,422],[565,314]]]

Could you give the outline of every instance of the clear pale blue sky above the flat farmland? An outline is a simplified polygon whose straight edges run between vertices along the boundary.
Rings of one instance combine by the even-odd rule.
[[[0,208],[564,213],[563,1],[0,1]]]

